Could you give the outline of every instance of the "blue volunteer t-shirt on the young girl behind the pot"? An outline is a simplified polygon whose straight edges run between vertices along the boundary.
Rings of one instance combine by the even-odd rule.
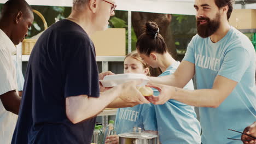
[[[118,109],[114,126],[117,134],[130,133],[133,131],[133,127],[140,127],[143,131],[157,131],[153,104],[142,104]]]

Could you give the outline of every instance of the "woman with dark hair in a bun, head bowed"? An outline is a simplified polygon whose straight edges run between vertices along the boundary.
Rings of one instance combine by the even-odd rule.
[[[145,32],[138,37],[136,49],[150,67],[163,71],[159,76],[172,75],[180,62],[175,61],[168,53],[165,40],[159,31],[155,22],[147,22]],[[194,89],[192,80],[184,89]],[[154,89],[154,95],[158,94],[159,92]],[[196,119],[194,106],[170,99],[163,105],[154,105],[154,108],[162,144],[201,143],[201,128]]]

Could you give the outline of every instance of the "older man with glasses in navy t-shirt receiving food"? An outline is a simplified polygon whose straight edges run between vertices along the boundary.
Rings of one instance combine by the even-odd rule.
[[[74,0],[71,15],[46,29],[27,65],[18,123],[11,143],[90,143],[105,107],[149,103],[135,81],[100,94],[90,35],[107,29],[114,0]],[[127,99],[129,98],[129,99]],[[118,103],[117,103],[118,101]]]

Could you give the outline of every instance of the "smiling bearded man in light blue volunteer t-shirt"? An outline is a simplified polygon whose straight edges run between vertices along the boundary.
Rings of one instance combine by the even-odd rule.
[[[197,35],[176,72],[149,77],[160,95],[153,104],[169,99],[200,107],[202,143],[241,143],[243,131],[256,119],[255,51],[246,35],[228,23],[232,0],[195,0]],[[182,89],[195,75],[197,89]],[[161,85],[163,84],[163,85]],[[166,86],[169,85],[169,86]]]

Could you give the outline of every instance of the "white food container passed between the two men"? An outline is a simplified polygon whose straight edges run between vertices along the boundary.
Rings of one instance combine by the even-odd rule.
[[[103,87],[114,87],[132,80],[142,80],[142,83],[138,86],[145,86],[148,83],[148,77],[144,74],[117,74],[117,75],[107,75],[103,80],[100,80]]]

